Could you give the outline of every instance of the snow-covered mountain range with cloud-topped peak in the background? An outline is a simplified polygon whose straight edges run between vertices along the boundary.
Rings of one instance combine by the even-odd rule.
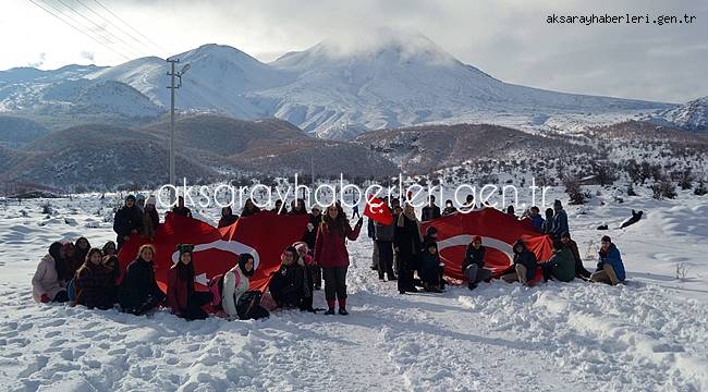
[[[191,64],[178,91],[179,109],[241,119],[276,117],[326,138],[435,123],[548,128],[646,118],[676,108],[506,84],[462,63],[422,34],[392,29],[374,30],[353,42],[327,39],[268,64],[220,45],[175,57],[181,61],[178,71]],[[130,103],[115,103],[119,109],[105,102],[99,107],[121,115],[141,110],[154,115],[169,106],[167,69],[164,60],[148,57],[103,69],[1,72],[0,111],[42,108],[51,101],[45,94],[50,84],[113,81],[133,87],[155,108],[144,108],[146,99],[134,94],[125,97]],[[139,105],[133,107],[135,102]]]

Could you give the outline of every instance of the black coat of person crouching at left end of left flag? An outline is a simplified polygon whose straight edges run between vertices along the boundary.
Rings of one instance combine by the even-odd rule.
[[[161,302],[164,293],[155,280],[152,262],[143,258],[131,261],[125,269],[125,275],[118,292],[118,302],[125,310],[139,309],[151,297]]]

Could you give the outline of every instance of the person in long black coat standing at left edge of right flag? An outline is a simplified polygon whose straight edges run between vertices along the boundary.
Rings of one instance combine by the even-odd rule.
[[[417,293],[413,282],[413,271],[418,266],[423,234],[420,224],[415,216],[415,209],[406,204],[403,212],[395,220],[393,249],[399,255],[399,293]]]

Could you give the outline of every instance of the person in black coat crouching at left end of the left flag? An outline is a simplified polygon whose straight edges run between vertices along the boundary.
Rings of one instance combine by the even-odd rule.
[[[137,258],[125,269],[125,277],[118,293],[118,302],[124,313],[144,315],[164,301],[164,293],[155,280],[154,257],[152,245],[143,245]]]

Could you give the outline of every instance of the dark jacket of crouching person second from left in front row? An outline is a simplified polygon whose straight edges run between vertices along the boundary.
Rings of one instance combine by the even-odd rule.
[[[89,309],[110,309],[113,307],[112,293],[115,286],[112,278],[113,272],[103,265],[84,264],[74,278],[76,302]]]

